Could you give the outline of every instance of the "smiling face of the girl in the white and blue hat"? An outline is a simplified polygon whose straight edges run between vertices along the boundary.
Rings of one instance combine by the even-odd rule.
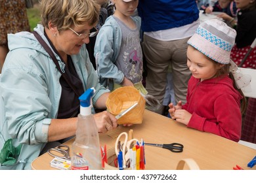
[[[204,54],[190,45],[188,45],[187,57],[186,64],[192,75],[194,78],[201,79],[201,81],[214,78],[218,69],[223,67],[223,65],[209,60]]]

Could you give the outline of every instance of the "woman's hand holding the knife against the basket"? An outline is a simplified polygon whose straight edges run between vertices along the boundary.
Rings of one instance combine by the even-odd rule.
[[[106,133],[117,127],[117,119],[115,116],[104,110],[93,115],[95,118],[98,132]]]

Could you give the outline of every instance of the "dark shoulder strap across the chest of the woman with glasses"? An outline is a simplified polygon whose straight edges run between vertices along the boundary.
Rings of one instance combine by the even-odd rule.
[[[45,41],[43,41],[41,36],[36,31],[32,31],[32,33],[33,33],[33,35],[35,35],[35,38],[40,42],[40,44],[43,46],[43,48],[45,48],[45,51],[47,51],[49,56],[51,56],[51,58],[53,59],[53,62],[55,63],[56,67],[58,68],[58,71],[60,71],[60,73],[62,74],[62,76],[64,77],[64,79],[68,83],[68,85],[72,88],[72,90],[74,90],[75,95],[77,95],[77,97],[79,97],[80,96],[79,92],[77,92],[77,90],[75,89],[74,84],[72,84],[72,82],[70,82],[70,79],[68,78],[68,75],[65,73],[64,69],[62,69],[60,67],[60,63],[56,59],[56,57],[54,56],[53,51],[51,50],[51,48],[47,45],[47,43]]]

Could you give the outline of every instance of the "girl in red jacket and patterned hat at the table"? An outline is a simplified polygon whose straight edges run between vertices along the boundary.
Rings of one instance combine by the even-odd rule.
[[[187,103],[169,104],[171,118],[188,127],[238,142],[243,93],[235,82],[236,65],[230,60],[236,31],[216,19],[203,22],[188,40],[187,65],[192,73]],[[231,67],[230,67],[231,66]],[[234,73],[234,77],[232,73]],[[242,76],[243,77],[243,76]],[[236,84],[238,86],[236,86]]]

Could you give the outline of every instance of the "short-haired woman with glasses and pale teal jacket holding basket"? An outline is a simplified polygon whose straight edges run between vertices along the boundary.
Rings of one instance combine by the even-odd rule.
[[[41,1],[41,25],[34,31],[51,48],[59,66],[33,33],[8,35],[10,52],[0,78],[0,149],[12,139],[12,146],[21,150],[12,166],[2,163],[0,169],[31,169],[33,159],[44,150],[75,135],[78,95],[88,88],[96,90],[93,106],[106,108],[109,90],[98,83],[85,47],[96,35],[90,30],[98,13],[91,0]],[[99,132],[117,127],[116,118],[106,110],[94,118]]]

